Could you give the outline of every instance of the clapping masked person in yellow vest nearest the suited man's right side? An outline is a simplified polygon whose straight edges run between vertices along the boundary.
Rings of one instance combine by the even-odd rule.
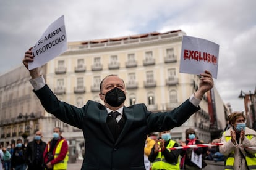
[[[160,132],[160,139],[156,139],[148,156],[152,163],[151,170],[179,169],[179,150],[170,150],[178,146],[176,141],[171,140],[170,131]]]

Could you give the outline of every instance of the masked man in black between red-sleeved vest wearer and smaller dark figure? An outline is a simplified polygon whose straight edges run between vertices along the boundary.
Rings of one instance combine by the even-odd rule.
[[[25,150],[25,161],[28,170],[38,169],[43,170],[43,152],[46,147],[46,142],[42,140],[42,132],[36,131],[34,140],[28,142]]]

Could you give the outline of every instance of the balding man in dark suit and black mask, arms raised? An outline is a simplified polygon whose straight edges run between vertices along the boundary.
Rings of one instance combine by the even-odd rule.
[[[33,62],[31,50],[25,52],[23,59],[27,68],[28,62]],[[197,92],[182,105],[173,111],[151,113],[144,104],[124,106],[126,88],[117,75],[106,76],[101,81],[99,95],[104,105],[88,100],[82,108],[59,101],[38,68],[30,70],[30,76],[30,83],[45,110],[82,129],[85,137],[82,169],[145,169],[143,148],[147,134],[181,126],[200,109],[200,99],[213,87],[211,74],[205,71]]]

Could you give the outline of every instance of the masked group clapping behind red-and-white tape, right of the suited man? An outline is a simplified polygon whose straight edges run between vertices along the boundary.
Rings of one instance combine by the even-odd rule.
[[[170,131],[150,134],[144,148],[145,157],[150,161],[147,169],[197,170],[207,166],[205,160],[221,162],[224,169],[256,169],[255,130],[246,127],[243,112],[231,113],[228,123],[220,138],[213,139],[210,146],[203,147],[200,144],[205,142],[198,139],[192,128],[186,129],[185,141],[171,139]],[[198,147],[187,147],[189,145]],[[177,149],[171,149],[173,147]]]

